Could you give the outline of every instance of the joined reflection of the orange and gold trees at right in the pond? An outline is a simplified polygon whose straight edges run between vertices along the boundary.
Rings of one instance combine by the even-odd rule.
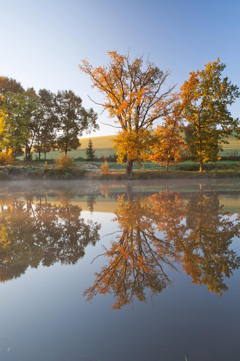
[[[188,203],[178,192],[159,192],[133,200],[127,187],[128,202],[118,198],[114,221],[121,234],[110,249],[93,286],[84,291],[87,300],[97,293],[113,293],[113,308],[138,300],[146,301],[145,289],[157,294],[171,284],[169,270],[181,262],[193,282],[207,285],[209,291],[227,290],[224,277],[240,265],[240,258],[229,249],[239,235],[240,220],[225,217],[217,195],[202,192]]]

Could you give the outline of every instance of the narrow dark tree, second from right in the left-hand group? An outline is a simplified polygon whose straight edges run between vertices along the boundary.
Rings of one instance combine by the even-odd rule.
[[[37,131],[34,149],[39,153],[46,153],[55,149],[56,131],[58,130],[58,117],[55,115],[54,107],[55,95],[50,90],[40,89],[38,92],[39,112],[37,113]]]

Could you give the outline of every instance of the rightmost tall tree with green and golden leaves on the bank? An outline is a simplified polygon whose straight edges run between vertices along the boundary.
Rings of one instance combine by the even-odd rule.
[[[208,161],[216,161],[222,144],[232,132],[239,135],[239,119],[233,119],[228,105],[239,97],[239,88],[222,77],[226,64],[217,61],[208,62],[205,69],[192,71],[188,81],[181,88],[181,98],[190,101],[184,109],[184,117],[189,123],[190,151],[194,160],[200,163],[199,171]]]

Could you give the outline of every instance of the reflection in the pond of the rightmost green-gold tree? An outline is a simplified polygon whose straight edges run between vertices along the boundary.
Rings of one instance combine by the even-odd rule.
[[[240,257],[229,249],[232,239],[240,234],[240,219],[230,221],[223,213],[216,194],[203,192],[190,196],[186,211],[186,233],[177,240],[183,269],[193,283],[205,284],[221,295],[227,290],[224,277],[239,268]]]

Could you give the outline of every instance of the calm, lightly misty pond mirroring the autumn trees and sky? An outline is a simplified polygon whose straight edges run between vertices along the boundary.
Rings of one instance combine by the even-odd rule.
[[[1,182],[0,360],[240,360],[239,195]]]

